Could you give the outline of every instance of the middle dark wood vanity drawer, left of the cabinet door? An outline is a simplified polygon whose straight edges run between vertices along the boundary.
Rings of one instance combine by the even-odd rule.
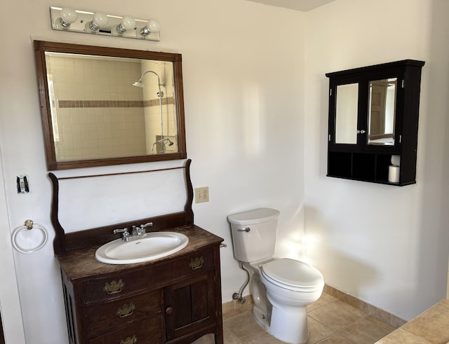
[[[157,289],[138,296],[86,308],[88,336],[105,333],[117,326],[156,315],[162,310],[162,291]]]

